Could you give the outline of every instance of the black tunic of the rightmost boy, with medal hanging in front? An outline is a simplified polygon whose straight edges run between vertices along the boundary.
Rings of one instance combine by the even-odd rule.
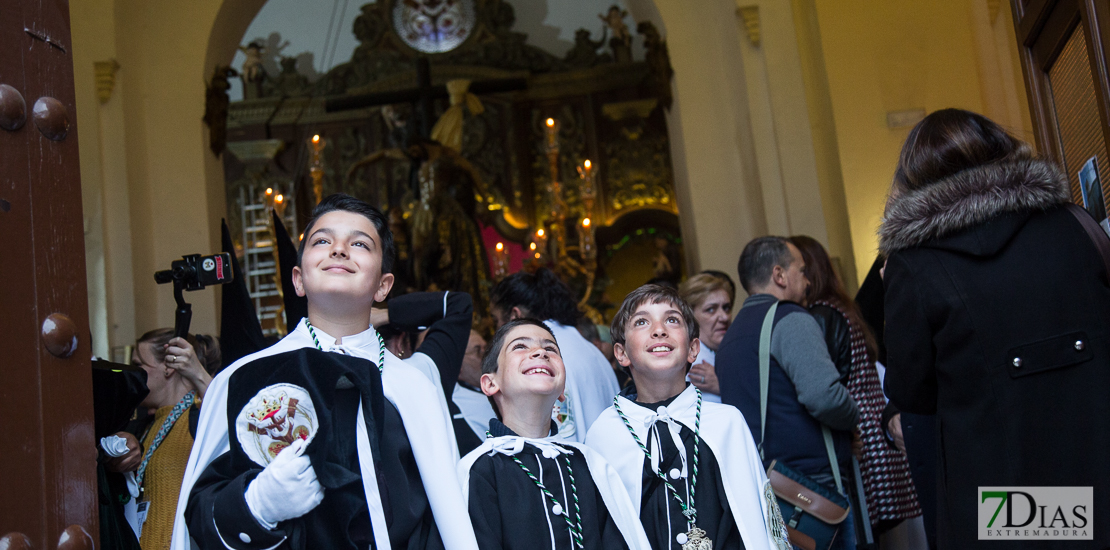
[[[644,408],[657,410],[659,407],[669,406],[675,396],[658,403],[636,403]],[[632,394],[629,399],[635,399]],[[683,462],[678,456],[678,448],[670,439],[668,428],[665,422],[658,422],[659,447],[663,457],[659,460],[659,470],[667,474],[670,486],[679,491],[679,497],[686,500],[686,482],[682,478],[670,479],[672,469],[682,471]],[[686,446],[687,474],[694,474],[694,430],[683,424],[679,432],[683,443]],[[652,448],[653,432],[648,432],[647,448]],[[640,493],[639,520],[647,532],[647,540],[650,541],[653,550],[679,549],[676,537],[685,533],[689,529],[683,509],[670,494],[670,490],[663,483],[659,476],[652,471],[652,461],[644,457],[644,489]],[[725,494],[725,483],[720,477],[720,466],[714,457],[709,446],[702,439],[698,444],[698,472],[697,487],[694,493],[694,508],[697,510],[697,527],[706,532],[713,540],[715,550],[739,550],[744,548],[740,532],[733,518],[733,511],[728,507],[728,498]]]

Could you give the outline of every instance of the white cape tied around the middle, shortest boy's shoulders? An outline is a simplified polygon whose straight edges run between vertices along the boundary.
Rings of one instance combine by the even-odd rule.
[[[552,436],[541,440],[532,440],[515,436],[487,438],[481,446],[478,446],[477,449],[466,453],[466,456],[463,457],[463,460],[458,462],[458,480],[462,482],[463,496],[466,499],[467,504],[470,503],[471,497],[471,468],[474,467],[474,462],[476,462],[478,457],[483,454],[497,452],[493,450],[493,446],[495,443],[517,439],[523,439],[525,442],[541,441],[542,443],[558,443],[577,449],[578,452],[585,457],[586,464],[589,466],[589,477],[593,478],[594,486],[597,487],[597,492],[601,493],[602,501],[605,502],[605,508],[608,509],[609,516],[613,517],[613,522],[617,526],[617,529],[620,530],[620,534],[624,537],[625,543],[628,544],[630,550],[652,549],[652,544],[647,540],[647,534],[644,532],[644,526],[639,523],[639,507],[633,506],[632,500],[628,498],[628,492],[625,491],[624,484],[620,482],[620,478],[617,476],[616,470],[614,470],[613,467],[609,466],[609,463],[593,449],[582,443],[564,441],[557,436]]]

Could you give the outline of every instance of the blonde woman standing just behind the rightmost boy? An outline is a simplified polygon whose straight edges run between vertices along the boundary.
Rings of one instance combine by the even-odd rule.
[[[733,282],[712,273],[698,273],[686,279],[678,293],[694,310],[697,319],[702,349],[686,377],[698,387],[705,400],[720,402],[720,383],[717,381],[717,348],[733,322],[733,301],[736,288]]]

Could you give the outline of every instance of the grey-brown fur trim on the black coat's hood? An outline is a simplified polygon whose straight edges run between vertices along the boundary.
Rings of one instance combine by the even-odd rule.
[[[1068,179],[1056,164],[1045,160],[971,168],[891,197],[879,227],[879,251],[890,256],[1000,213],[1047,210],[1070,200]]]

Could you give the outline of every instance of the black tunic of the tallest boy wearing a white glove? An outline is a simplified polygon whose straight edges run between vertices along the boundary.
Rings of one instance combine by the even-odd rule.
[[[310,367],[311,366],[311,367]],[[231,450],[213,460],[193,486],[185,510],[190,536],[201,548],[253,550],[281,548],[375,548],[357,454],[360,399],[377,472],[390,542],[395,549],[443,548],[420,471],[396,407],[382,393],[376,366],[339,353],[300,349],[243,366],[229,383],[229,414],[258,389],[273,383],[266,377],[302,386],[313,398],[320,429],[305,449],[324,487],[324,500],[309,513],[264,529],[251,514],[244,493],[262,472],[245,457],[234,429]],[[345,377],[354,388],[336,389]],[[229,426],[234,426],[232,418]]]

